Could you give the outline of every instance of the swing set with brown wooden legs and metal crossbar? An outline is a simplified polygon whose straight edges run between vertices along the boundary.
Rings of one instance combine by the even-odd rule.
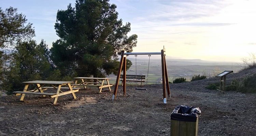
[[[123,95],[126,95],[126,55],[148,55],[149,60],[148,60],[148,68],[149,68],[149,62],[150,62],[150,56],[151,55],[161,55],[161,64],[162,64],[162,89],[163,89],[163,103],[167,103],[166,99],[166,90],[168,97],[170,98],[170,86],[169,86],[169,81],[168,81],[168,73],[167,73],[167,66],[166,66],[166,59],[165,59],[165,48],[161,50],[161,52],[126,52],[125,50],[122,51],[121,54],[121,60],[118,68],[118,73],[116,77],[116,83],[115,83],[115,89],[113,92],[112,100],[116,99],[117,96],[117,89],[118,89],[118,83],[119,83],[119,78],[122,72],[122,67],[123,67]],[[137,60],[136,60],[137,63]],[[148,73],[148,69],[147,69]],[[136,64],[136,74],[137,74],[137,64]],[[148,76],[148,74],[147,74]],[[137,88],[139,90],[145,90],[141,88]]]

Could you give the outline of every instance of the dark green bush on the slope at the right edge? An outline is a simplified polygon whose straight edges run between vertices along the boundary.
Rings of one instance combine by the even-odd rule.
[[[241,92],[256,92],[256,73],[246,77],[239,86]]]

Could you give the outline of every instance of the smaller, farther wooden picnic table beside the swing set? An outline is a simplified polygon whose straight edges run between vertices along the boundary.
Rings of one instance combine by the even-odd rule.
[[[86,89],[86,86],[97,86],[99,88],[99,93],[101,93],[102,88],[109,87],[109,90],[111,91],[111,86],[113,84],[109,83],[109,78],[88,78],[88,77],[78,77],[74,78],[75,79],[75,84],[72,84],[73,87],[76,86],[84,86]],[[81,83],[77,84],[78,81],[81,80]],[[91,80],[94,80],[94,82],[91,82]],[[106,83],[104,83],[106,81]]]

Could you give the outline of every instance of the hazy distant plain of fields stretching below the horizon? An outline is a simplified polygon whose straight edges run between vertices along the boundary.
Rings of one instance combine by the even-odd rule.
[[[139,56],[138,56],[139,57]],[[148,58],[144,57],[139,59],[137,57],[137,75],[146,75],[148,70]],[[136,60],[132,56],[127,57],[132,62],[132,66],[127,70],[126,74],[136,74]],[[166,58],[168,79],[172,82],[176,78],[186,78],[186,81],[190,81],[194,75],[205,75],[207,78],[214,77],[224,70],[233,70],[238,72],[244,66],[236,62],[213,62],[203,60],[185,60],[185,59],[169,59]],[[123,73],[122,73],[123,74]],[[111,74],[108,76],[111,78],[110,82],[114,83],[116,76]],[[162,77],[161,60],[150,59],[150,65],[148,70],[148,84],[157,83],[157,80]],[[135,84],[135,83],[130,83]]]

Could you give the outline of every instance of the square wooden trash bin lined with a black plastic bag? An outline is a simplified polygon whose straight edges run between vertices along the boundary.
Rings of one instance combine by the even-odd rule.
[[[201,110],[194,106],[176,106],[171,114],[171,136],[197,136]]]

